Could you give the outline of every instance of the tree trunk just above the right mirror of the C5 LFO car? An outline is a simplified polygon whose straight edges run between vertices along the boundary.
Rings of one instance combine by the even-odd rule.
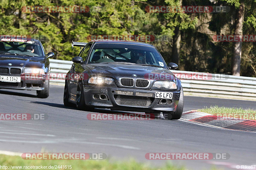
[[[180,28],[179,26],[175,27],[174,30],[175,35],[173,36],[173,45],[172,45],[172,63],[180,64]]]

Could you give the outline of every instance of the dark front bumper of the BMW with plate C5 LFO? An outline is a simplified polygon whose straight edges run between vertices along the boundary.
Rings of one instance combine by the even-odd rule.
[[[117,102],[118,95],[116,91],[126,91],[133,92],[133,95],[122,95],[124,98],[137,100],[140,96],[136,96],[136,92],[141,93],[153,93],[153,97],[148,98],[150,104],[148,106],[130,105],[129,102],[122,103]],[[96,108],[110,108],[111,110],[122,110],[122,111],[134,111],[134,112],[169,112],[175,111],[180,99],[180,91],[166,91],[172,92],[172,104],[162,105],[159,104],[161,99],[154,98],[156,92],[164,92],[163,90],[145,90],[145,89],[131,89],[131,88],[119,88],[119,87],[106,87],[106,86],[94,86],[94,85],[84,85],[84,100],[85,104],[90,107]],[[96,100],[93,98],[94,94],[105,94],[107,95],[107,100]],[[143,97],[142,97],[143,98]],[[145,99],[145,97],[143,98]],[[133,102],[134,104],[134,102]]]

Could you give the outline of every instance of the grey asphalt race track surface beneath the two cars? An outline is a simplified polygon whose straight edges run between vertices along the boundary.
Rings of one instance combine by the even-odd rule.
[[[166,160],[147,160],[146,153],[229,153],[228,160],[171,160],[187,169],[229,169],[228,165],[256,165],[256,133],[202,126],[182,120],[102,120],[63,105],[64,86],[50,85],[47,99],[35,91],[0,89],[0,113],[48,115],[47,120],[0,121],[0,150],[12,152],[106,153],[113,160],[134,158],[154,166]],[[185,96],[184,112],[210,107],[256,109],[255,101]],[[95,113],[120,113],[95,109]],[[220,164],[220,165],[217,165]]]

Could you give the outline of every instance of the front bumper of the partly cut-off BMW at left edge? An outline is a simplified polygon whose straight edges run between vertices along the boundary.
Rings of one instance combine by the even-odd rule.
[[[44,90],[45,79],[26,79],[24,75],[0,75],[21,77],[20,82],[0,81],[0,89],[17,89],[17,90]]]

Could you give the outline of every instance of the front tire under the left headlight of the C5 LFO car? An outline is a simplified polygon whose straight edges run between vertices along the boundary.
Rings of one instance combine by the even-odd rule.
[[[93,111],[93,107],[88,107],[84,101],[84,86],[82,81],[78,82],[76,89],[76,108],[78,110]]]

